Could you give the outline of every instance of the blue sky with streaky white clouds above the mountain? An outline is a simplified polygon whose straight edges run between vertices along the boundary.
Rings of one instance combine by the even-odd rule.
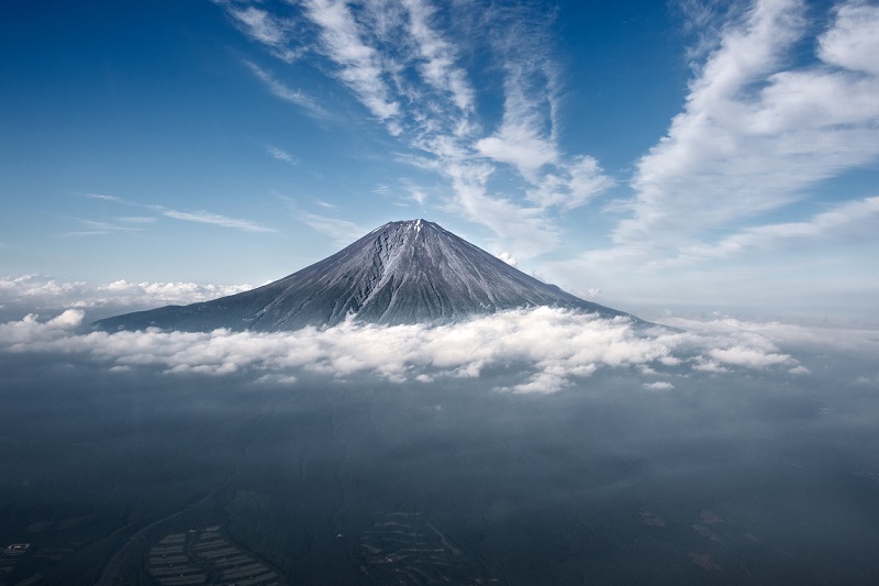
[[[258,285],[426,218],[621,309],[879,317],[876,2],[2,12],[5,289]]]

